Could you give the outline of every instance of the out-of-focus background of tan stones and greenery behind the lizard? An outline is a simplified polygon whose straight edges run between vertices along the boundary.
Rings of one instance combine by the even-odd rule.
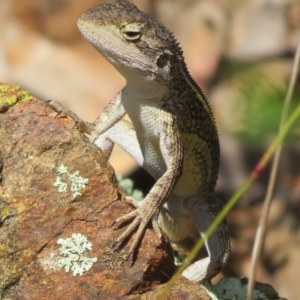
[[[76,21],[101,0],[0,0],[0,81],[55,99],[92,122],[125,80],[80,36]],[[274,138],[300,38],[300,0],[135,0],[174,32],[220,132],[224,203]],[[293,99],[300,101],[298,82]],[[285,142],[257,280],[299,299],[300,122]],[[111,164],[147,193],[153,180],[121,149]],[[228,216],[230,268],[249,276],[269,170]]]

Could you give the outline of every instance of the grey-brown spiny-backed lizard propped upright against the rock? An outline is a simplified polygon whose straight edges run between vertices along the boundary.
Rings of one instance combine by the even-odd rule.
[[[127,0],[91,8],[77,24],[83,37],[124,76],[126,86],[93,123],[56,101],[50,105],[92,135],[107,159],[116,143],[156,180],[143,201],[126,197],[135,209],[115,221],[132,220],[115,247],[136,230],[129,257],[149,223],[160,238],[161,227],[174,243],[193,234],[203,237],[222,208],[214,192],[220,146],[212,110],[188,72],[179,43],[163,24]],[[131,122],[123,119],[125,114]],[[205,247],[207,257],[183,272],[193,282],[209,280],[227,263],[225,220]]]

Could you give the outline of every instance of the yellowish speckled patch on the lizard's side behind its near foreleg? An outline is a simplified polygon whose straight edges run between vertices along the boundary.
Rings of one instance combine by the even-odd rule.
[[[183,171],[174,193],[178,196],[193,195],[211,183],[212,158],[208,145],[197,134],[182,133]]]

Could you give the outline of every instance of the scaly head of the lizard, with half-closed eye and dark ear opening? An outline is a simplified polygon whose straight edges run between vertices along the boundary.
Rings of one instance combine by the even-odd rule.
[[[82,35],[131,85],[168,87],[174,66],[183,63],[173,35],[126,0],[113,0],[84,12]],[[153,87],[153,86],[152,86]]]

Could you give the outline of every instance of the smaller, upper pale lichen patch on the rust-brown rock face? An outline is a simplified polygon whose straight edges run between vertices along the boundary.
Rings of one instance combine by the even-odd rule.
[[[56,177],[53,185],[58,188],[58,192],[60,193],[66,193],[68,191],[68,183],[62,177],[66,177],[70,182],[70,191],[73,192],[73,197],[81,196],[80,190],[84,189],[89,183],[88,178],[83,178],[79,175],[79,171],[72,174],[64,165],[59,166],[56,172],[59,176]]]

